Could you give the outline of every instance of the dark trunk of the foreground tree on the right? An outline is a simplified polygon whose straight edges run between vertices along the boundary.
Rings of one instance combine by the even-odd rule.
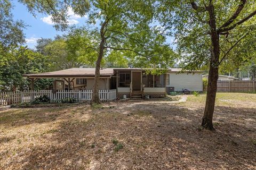
[[[214,130],[212,117],[214,112],[215,98],[217,92],[217,81],[219,78],[219,57],[220,57],[220,44],[219,44],[219,33],[216,29],[216,20],[214,14],[213,5],[208,7],[210,21],[209,25],[211,28],[211,58],[210,58],[210,69],[207,85],[206,104],[204,110],[204,116],[202,120],[202,126],[205,129]]]

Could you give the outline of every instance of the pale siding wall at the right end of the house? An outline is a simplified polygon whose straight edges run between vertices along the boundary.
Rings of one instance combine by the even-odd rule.
[[[190,91],[203,91],[202,72],[196,73],[179,73],[168,72],[170,78],[170,84],[168,86],[174,86],[174,91],[182,91],[182,89],[188,89]],[[168,84],[168,83],[167,83]]]

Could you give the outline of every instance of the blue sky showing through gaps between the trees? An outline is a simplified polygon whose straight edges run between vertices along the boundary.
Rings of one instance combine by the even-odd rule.
[[[53,27],[50,15],[45,15],[41,13],[36,13],[36,18],[28,12],[27,7],[17,0],[13,1],[13,18],[14,20],[22,20],[28,25],[26,29],[23,30],[26,36],[26,45],[29,48],[34,48],[36,45],[36,40],[39,38],[54,38],[56,35],[62,35],[65,32],[57,31]],[[86,16],[81,18],[75,15],[72,10],[68,11],[69,23],[81,26],[85,24]],[[167,43],[172,43],[174,41],[173,37],[167,37]],[[175,48],[175,46],[172,46]]]

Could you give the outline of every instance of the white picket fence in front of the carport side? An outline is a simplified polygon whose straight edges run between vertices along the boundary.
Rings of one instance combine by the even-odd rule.
[[[92,90],[28,90],[15,92],[0,92],[0,105],[11,105],[19,103],[29,103],[35,98],[44,96],[50,98],[51,103],[59,103],[61,99],[75,98],[78,101],[90,101],[92,98]],[[101,101],[116,100],[116,89],[99,90],[99,98]]]

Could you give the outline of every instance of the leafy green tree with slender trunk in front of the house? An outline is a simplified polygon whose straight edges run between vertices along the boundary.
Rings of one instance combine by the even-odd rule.
[[[151,3],[143,1],[109,0],[92,2],[89,18],[92,23],[95,23],[97,19],[100,21],[100,39],[99,46],[95,49],[98,52],[98,59],[95,64],[91,104],[100,103],[98,82],[102,58],[107,50],[130,51],[139,56],[146,56],[146,50],[137,50],[142,49],[142,44],[145,45],[137,38],[142,35],[142,32],[146,33],[145,30],[150,31],[148,25],[153,17],[151,8]],[[136,46],[140,46],[140,48]]]

